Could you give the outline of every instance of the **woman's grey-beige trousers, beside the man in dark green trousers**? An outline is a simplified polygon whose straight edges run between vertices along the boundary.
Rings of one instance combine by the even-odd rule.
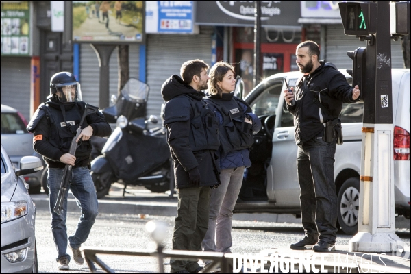
[[[242,185],[244,166],[221,169],[221,185],[211,190],[208,230],[204,237],[203,251],[231,253],[232,216]]]

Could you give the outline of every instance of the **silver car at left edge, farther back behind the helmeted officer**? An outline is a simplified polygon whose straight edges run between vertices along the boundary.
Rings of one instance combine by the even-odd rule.
[[[18,110],[1,105],[1,143],[15,166],[23,156],[34,155],[41,159],[33,149],[33,134],[27,132],[26,127],[27,121]],[[42,163],[45,165],[45,162]],[[40,193],[41,176],[42,171],[25,175],[30,194]]]

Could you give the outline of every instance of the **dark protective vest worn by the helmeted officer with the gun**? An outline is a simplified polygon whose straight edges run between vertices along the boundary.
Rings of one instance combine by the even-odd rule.
[[[57,105],[57,104],[56,104]],[[71,141],[76,134],[79,127],[80,120],[82,119],[82,114],[84,112],[84,103],[78,102],[73,105],[69,110],[65,110],[65,121],[64,116],[60,108],[54,108],[53,106],[46,103],[40,106],[42,110],[45,110],[46,119],[49,121],[49,142],[53,147],[57,147],[63,153],[69,153]],[[86,120],[86,119],[85,119]],[[88,124],[84,121],[82,129],[87,127]],[[77,143],[79,146],[75,152],[76,157],[88,156],[90,155],[92,146],[90,141],[79,140]]]

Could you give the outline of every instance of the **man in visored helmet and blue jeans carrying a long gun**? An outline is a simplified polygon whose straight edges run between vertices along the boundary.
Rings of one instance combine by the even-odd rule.
[[[47,186],[50,195],[51,232],[58,251],[58,269],[67,270],[70,262],[70,256],[66,253],[68,240],[73,260],[77,264],[84,264],[79,247],[86,241],[98,214],[96,190],[89,172],[92,149],[90,137],[108,136],[111,128],[101,112],[86,116],[81,125],[82,132],[77,138],[77,150],[75,155],[71,155],[71,140],[75,137],[86,105],[82,101],[80,84],[71,73],[56,73],[51,77],[50,95],[47,99],[49,101],[41,104],[34,113],[27,130],[34,134],[34,150],[43,156],[49,168]],[[77,205],[82,209],[75,232],[69,239],[66,229],[67,201],[64,201],[60,215],[53,212],[66,164],[73,166],[70,189]],[[69,191],[66,192],[65,200],[68,195]]]

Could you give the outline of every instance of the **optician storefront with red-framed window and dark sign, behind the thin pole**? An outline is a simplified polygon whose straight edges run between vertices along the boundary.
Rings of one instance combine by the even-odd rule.
[[[254,1],[197,1],[196,24],[227,26],[227,61],[245,82],[245,95],[253,88]],[[259,79],[274,73],[297,71],[295,47],[301,41],[299,1],[262,1]],[[220,55],[221,56],[221,55]]]

